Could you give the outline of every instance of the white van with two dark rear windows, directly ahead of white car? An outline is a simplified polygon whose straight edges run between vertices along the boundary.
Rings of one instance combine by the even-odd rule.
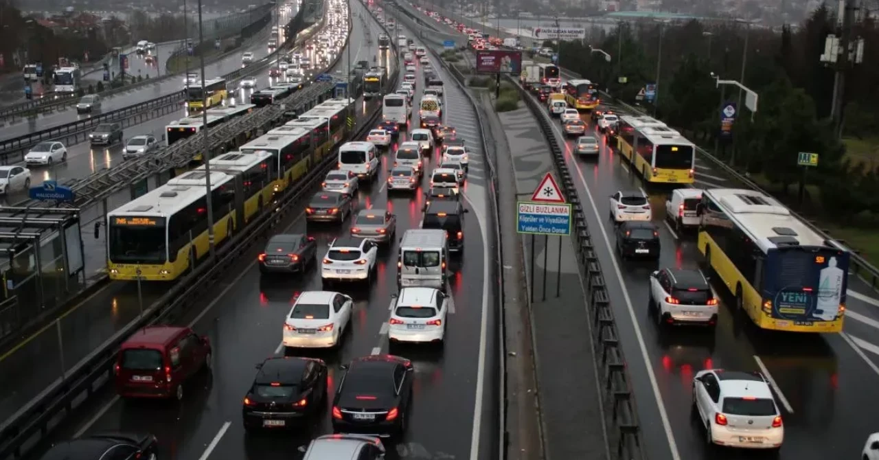
[[[448,235],[445,230],[406,230],[396,259],[397,288],[446,291]]]

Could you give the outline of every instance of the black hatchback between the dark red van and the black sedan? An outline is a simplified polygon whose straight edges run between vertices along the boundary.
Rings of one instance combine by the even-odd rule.
[[[301,427],[319,415],[327,398],[327,366],[316,358],[268,358],[241,407],[244,429]]]

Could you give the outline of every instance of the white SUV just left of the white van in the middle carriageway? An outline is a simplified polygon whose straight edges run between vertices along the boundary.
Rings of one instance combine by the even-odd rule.
[[[323,256],[321,281],[324,286],[333,281],[360,281],[372,283],[379,246],[371,239],[338,237]]]

